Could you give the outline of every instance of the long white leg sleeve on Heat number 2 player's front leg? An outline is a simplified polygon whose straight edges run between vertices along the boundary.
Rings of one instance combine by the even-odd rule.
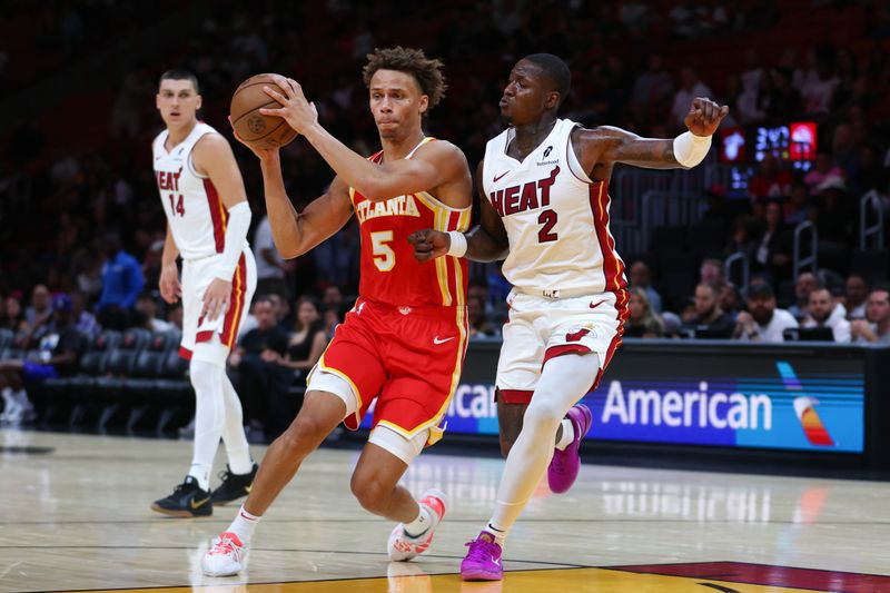
[[[544,365],[497,487],[491,524],[503,527],[504,537],[547,470],[560,423],[593,385],[599,370],[595,353],[557,356]]]

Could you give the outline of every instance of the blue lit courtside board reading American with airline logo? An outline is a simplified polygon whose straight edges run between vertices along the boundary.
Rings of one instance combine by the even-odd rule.
[[[467,355],[447,435],[497,434],[496,350]],[[491,364],[486,369],[485,364]],[[831,453],[864,448],[863,360],[724,348],[619,352],[595,392],[589,438]],[[488,375],[488,376],[486,376]],[[370,417],[363,426],[370,425]]]

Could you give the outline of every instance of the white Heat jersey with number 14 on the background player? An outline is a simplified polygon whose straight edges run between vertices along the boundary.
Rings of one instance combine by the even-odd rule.
[[[160,201],[182,259],[221,254],[226,246],[229,213],[210,179],[198,175],[191,162],[191,149],[207,134],[216,134],[216,130],[198,122],[169,152],[164,147],[169,135],[167,130],[151,145]]]

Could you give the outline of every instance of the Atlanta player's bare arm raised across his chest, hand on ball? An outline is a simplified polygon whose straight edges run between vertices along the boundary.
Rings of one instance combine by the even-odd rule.
[[[347,186],[356,188],[373,200],[386,200],[396,196],[428,191],[448,184],[458,176],[469,184],[466,158],[454,145],[446,141],[429,142],[417,150],[414,158],[376,164],[358,155],[337,140],[318,123],[318,112],[303,93],[299,83],[290,78],[276,79],[284,93],[265,87],[264,90],[278,101],[277,109],[260,109],[266,116],[284,118],[287,123],[306,137],[330,168]]]

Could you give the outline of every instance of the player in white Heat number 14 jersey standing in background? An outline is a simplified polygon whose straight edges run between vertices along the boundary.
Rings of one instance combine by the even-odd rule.
[[[165,72],[156,103],[167,125],[151,145],[167,214],[160,294],[167,303],[182,298],[179,354],[190,359],[196,399],[191,467],[185,482],[151,508],[174,516],[210,515],[215,503],[246,496],[257,471],[241,425],[241,404],[226,376],[226,357],[257,283],[246,239],[250,207],[228,141],[198,121],[201,96],[195,76]],[[222,484],[210,492],[220,436],[229,464]]]

